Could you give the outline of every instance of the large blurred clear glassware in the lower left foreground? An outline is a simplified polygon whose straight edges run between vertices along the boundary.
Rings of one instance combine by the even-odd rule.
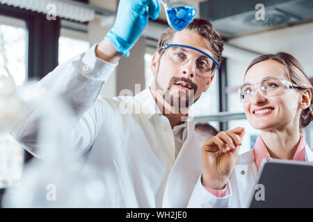
[[[63,99],[38,83],[17,88],[10,77],[1,76],[0,84],[5,104],[0,110],[0,179],[7,188],[3,207],[104,207],[108,200],[98,172],[74,152],[74,114]],[[33,158],[23,173],[21,145],[42,159]]]

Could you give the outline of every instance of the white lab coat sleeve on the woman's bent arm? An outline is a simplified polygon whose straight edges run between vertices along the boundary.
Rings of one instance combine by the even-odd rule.
[[[227,180],[227,189],[230,190],[230,194],[224,197],[216,197],[205,189],[201,182],[201,175],[198,178],[193,193],[187,207],[191,208],[228,208],[230,207],[230,200],[232,198],[232,187],[230,180]]]

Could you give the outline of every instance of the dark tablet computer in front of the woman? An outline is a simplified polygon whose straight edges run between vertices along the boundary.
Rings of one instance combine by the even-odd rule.
[[[313,208],[313,162],[263,160],[248,207]]]

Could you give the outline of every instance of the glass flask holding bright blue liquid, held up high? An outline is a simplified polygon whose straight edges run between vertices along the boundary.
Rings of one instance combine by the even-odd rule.
[[[177,0],[161,0],[166,10],[166,18],[170,27],[182,31],[195,18],[197,10],[188,3]]]

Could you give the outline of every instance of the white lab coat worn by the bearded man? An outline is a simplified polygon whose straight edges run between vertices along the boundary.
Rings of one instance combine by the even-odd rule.
[[[77,123],[68,136],[86,164],[97,167],[106,188],[105,207],[187,207],[190,201],[209,207],[201,203],[202,187],[196,185],[202,169],[193,119],[188,121],[188,134],[175,160],[172,128],[157,113],[149,89],[134,97],[98,96],[115,67],[97,58],[93,46],[40,81],[73,108]],[[131,74],[124,77],[131,78]],[[120,106],[125,105],[141,107],[144,114],[123,114]],[[41,157],[37,133],[30,115],[12,134],[35,157]]]

